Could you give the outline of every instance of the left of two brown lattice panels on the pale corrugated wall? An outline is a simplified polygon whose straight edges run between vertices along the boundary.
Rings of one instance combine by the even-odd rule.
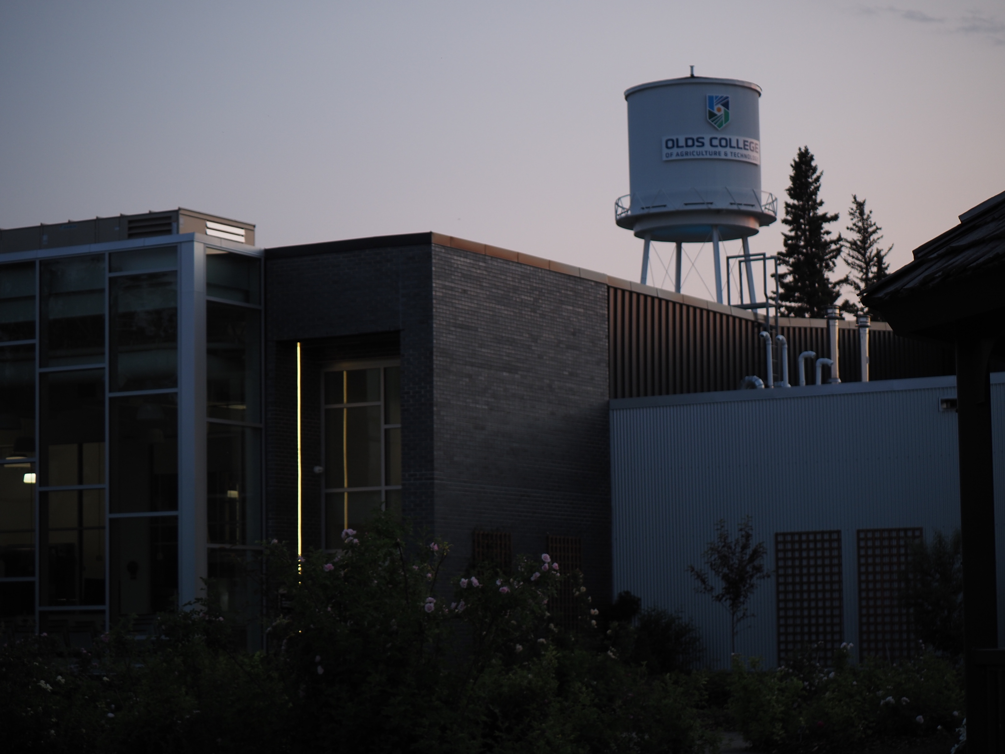
[[[841,532],[775,534],[778,659],[819,646],[829,656],[844,631]]]

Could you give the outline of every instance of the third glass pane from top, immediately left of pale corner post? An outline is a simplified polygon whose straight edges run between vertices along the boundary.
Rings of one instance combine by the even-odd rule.
[[[113,513],[178,510],[178,396],[109,399]]]

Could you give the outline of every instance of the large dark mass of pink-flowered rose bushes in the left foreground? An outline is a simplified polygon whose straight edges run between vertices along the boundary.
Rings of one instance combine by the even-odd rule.
[[[0,647],[12,751],[700,752],[701,680],[619,659],[576,576],[547,555],[444,583],[449,547],[380,517],[338,552],[264,548],[266,649],[208,600],[86,649]],[[549,613],[575,585],[579,631]],[[569,588],[569,587],[567,587]],[[282,596],[280,605],[278,596]]]

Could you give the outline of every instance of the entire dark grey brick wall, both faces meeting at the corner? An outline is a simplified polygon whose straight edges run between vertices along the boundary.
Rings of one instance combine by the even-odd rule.
[[[535,556],[549,534],[581,537],[588,586],[609,596],[604,284],[429,242],[270,249],[265,269],[269,537],[295,539],[295,342],[319,545],[320,371],[398,333],[405,516],[454,545],[451,571],[475,529]]]

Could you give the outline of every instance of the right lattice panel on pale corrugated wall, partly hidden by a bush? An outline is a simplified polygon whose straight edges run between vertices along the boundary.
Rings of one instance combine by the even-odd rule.
[[[918,529],[859,529],[858,651],[898,659],[915,648],[911,612],[900,604],[900,574],[911,546],[922,539]]]

